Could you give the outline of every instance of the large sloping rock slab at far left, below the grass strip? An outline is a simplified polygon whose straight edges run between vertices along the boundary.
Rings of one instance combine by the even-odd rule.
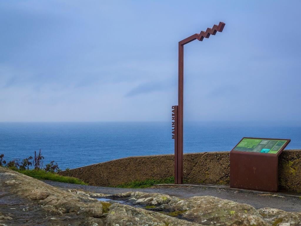
[[[0,225],[104,225],[101,202],[95,199],[3,167],[0,184]]]

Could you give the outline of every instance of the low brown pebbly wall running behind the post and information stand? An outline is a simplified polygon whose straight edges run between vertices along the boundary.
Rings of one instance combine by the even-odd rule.
[[[189,184],[229,184],[230,152],[184,154],[184,180]],[[165,179],[174,175],[174,155],[135,156],[61,172],[90,185],[116,186],[134,180]],[[279,157],[279,188],[301,192],[301,150]]]

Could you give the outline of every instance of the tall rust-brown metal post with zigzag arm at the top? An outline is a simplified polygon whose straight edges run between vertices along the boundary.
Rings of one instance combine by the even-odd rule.
[[[184,45],[193,40],[203,41],[216,32],[222,32],[225,23],[219,22],[212,28],[207,28],[206,32],[201,31],[200,34],[194,34],[179,42],[179,62],[178,62],[178,106],[177,121],[175,131],[175,184],[183,184],[183,85],[184,85]]]

